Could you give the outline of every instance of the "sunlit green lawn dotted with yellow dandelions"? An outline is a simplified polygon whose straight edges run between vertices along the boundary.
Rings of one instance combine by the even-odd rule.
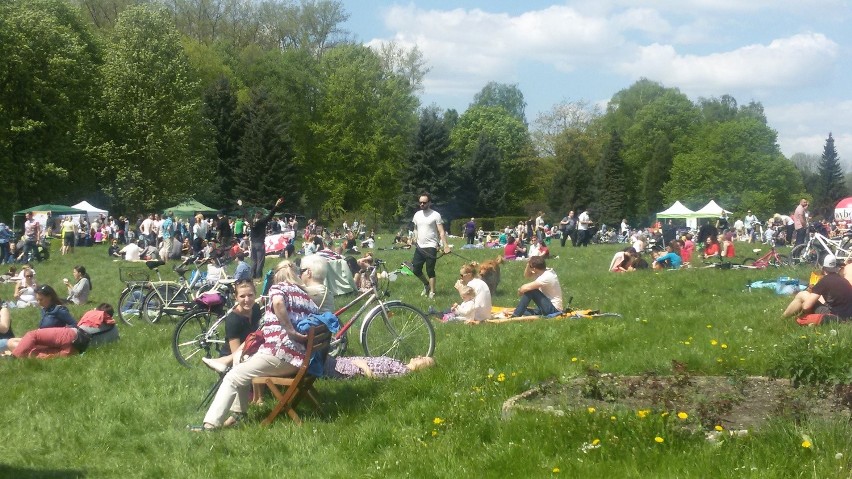
[[[386,247],[388,239],[377,246]],[[497,255],[460,250],[461,240],[455,241],[467,258]],[[187,424],[200,423],[203,411],[196,406],[215,375],[174,359],[173,322],[120,326],[120,342],[81,356],[0,360],[0,477],[852,476],[852,427],[843,417],[779,416],[721,444],[681,428],[674,412],[641,418],[636,411],[582,409],[501,419],[507,398],[545,380],[581,376],[589,367],[671,374],[677,360],[693,374],[774,370],[849,381],[848,325],[802,328],[781,319],[788,298],[746,289],[749,280],[782,275],[806,280],[808,268],[618,275],[606,272],[616,246],[554,245],[559,257],[548,265],[559,274],[566,299],[622,318],[437,323],[436,368],[393,380],[322,381],[324,410],[305,410],[302,427],[281,419],[260,426],[271,407],[267,401],[237,429],[186,431]],[[60,289],[61,279],[82,264],[93,279],[92,302],[116,303],[123,286],[119,263],[105,248],[78,248],[65,257],[58,249],[54,242],[54,256],[37,265],[40,283]],[[411,258],[405,250],[376,255],[392,265]],[[454,255],[439,261],[438,297],[431,304],[443,308],[457,300],[451,285],[463,261]],[[515,304],[522,270],[521,262],[503,266],[495,305]],[[430,302],[420,289],[416,279],[401,277],[391,291],[425,310]],[[11,295],[10,286],[0,285],[0,297]],[[73,307],[72,313],[79,317],[85,309]],[[37,322],[35,309],[13,311],[18,335]],[[358,354],[357,340],[350,341],[350,354]]]

